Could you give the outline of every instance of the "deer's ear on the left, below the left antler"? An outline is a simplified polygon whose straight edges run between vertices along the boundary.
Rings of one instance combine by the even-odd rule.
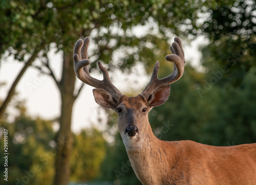
[[[109,94],[109,92],[103,89],[100,89],[100,88],[93,89],[93,96],[94,96],[95,102],[104,108],[114,109],[116,107],[116,101]]]

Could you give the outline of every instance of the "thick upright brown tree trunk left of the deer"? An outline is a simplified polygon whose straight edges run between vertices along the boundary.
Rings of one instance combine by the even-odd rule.
[[[68,185],[70,177],[70,157],[72,151],[71,115],[74,97],[75,73],[73,55],[63,57],[62,78],[58,84],[61,94],[61,115],[56,137],[57,154],[55,158],[55,185]]]

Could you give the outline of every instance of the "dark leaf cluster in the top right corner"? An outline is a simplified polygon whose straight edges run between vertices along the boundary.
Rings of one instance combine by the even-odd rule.
[[[210,16],[202,26],[202,31],[214,40],[222,36],[232,38],[250,38],[255,36],[256,3],[252,0],[238,0],[229,4],[218,5],[209,10]]]

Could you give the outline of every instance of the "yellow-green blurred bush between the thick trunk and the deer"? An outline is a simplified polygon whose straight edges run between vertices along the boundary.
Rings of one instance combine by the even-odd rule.
[[[83,182],[98,176],[105,153],[106,143],[102,132],[94,128],[74,134],[70,180]]]

